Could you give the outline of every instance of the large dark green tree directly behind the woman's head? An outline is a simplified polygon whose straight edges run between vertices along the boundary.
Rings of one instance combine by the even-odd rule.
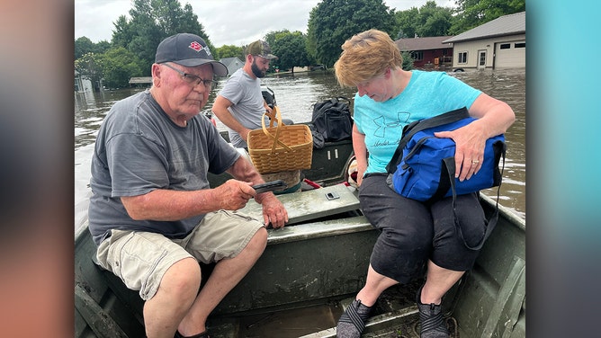
[[[309,13],[307,51],[332,67],[345,40],[372,28],[397,35],[394,10],[382,0],[323,0]]]

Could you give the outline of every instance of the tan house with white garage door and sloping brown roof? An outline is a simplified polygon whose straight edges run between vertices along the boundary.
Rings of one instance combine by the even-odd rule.
[[[525,67],[525,12],[500,16],[443,43],[453,43],[454,69]]]

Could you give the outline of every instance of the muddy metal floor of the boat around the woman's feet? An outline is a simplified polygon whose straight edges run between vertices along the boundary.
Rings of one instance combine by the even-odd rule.
[[[378,299],[363,338],[418,338],[419,318],[415,295],[423,280],[387,289]],[[297,308],[256,310],[239,316],[212,318],[211,337],[223,338],[326,338],[336,337],[336,323],[354,295],[324,299],[319,304]],[[253,311],[249,311],[253,312]],[[447,325],[454,330],[453,319]],[[459,334],[453,333],[452,338]]]

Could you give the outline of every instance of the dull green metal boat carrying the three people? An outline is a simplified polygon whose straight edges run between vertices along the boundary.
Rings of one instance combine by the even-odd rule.
[[[325,151],[306,177],[323,185],[344,181],[352,144]],[[379,233],[364,218],[353,189],[335,184],[278,198],[291,222],[268,230],[265,253],[211,314],[213,336],[334,337],[337,318],[363,287]],[[482,194],[480,200],[490,214],[495,201]],[[525,220],[498,208],[498,225],[474,268],[444,298],[453,337],[525,337]],[[251,201],[242,211],[260,217],[261,209]],[[94,263],[87,227],[75,242],[75,336],[145,336],[138,293]],[[211,268],[202,265],[203,280]],[[417,337],[415,294],[422,281],[386,290],[363,336]]]

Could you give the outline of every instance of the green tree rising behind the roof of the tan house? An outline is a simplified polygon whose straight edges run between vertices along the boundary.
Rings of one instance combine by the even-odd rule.
[[[525,11],[525,0],[455,0],[455,4],[451,35],[469,31],[499,16]]]

